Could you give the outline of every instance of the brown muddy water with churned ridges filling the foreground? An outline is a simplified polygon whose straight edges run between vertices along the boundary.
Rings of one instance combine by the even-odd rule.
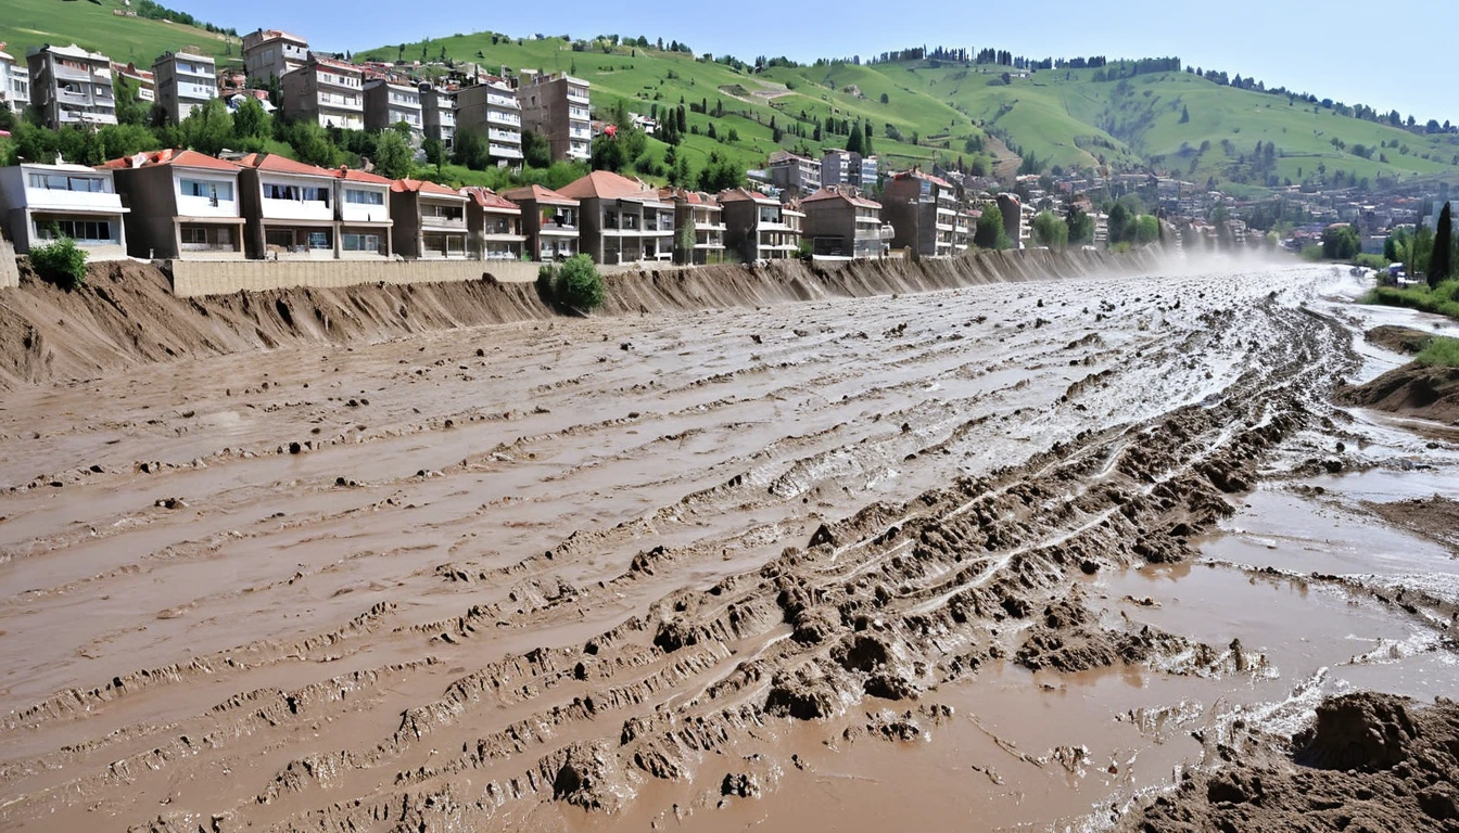
[[[1452,553],[1363,511],[1452,495],[1452,452],[1326,404],[1390,360],[1334,292],[1236,266],[7,394],[0,827],[1091,827],[1233,719],[1452,693]],[[1339,438],[1363,474],[1299,471]]]

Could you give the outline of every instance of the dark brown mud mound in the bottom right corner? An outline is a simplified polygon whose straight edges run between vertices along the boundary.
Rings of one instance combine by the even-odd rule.
[[[1355,693],[1317,706],[1287,750],[1246,735],[1228,763],[1131,814],[1122,830],[1459,830],[1459,705]]]

